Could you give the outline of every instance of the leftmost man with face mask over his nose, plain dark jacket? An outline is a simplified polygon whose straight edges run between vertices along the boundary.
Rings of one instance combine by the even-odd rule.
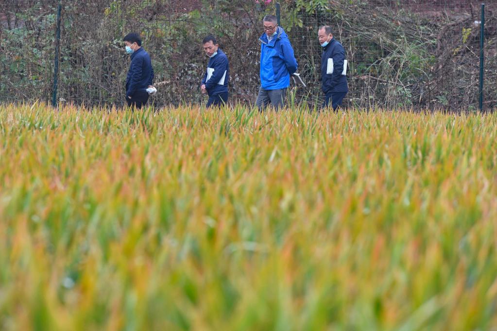
[[[152,87],[154,69],[150,56],[142,46],[142,39],[136,33],[127,34],[124,39],[126,53],[131,55],[131,64],[126,76],[126,102],[128,106],[140,109],[149,100],[148,87]]]

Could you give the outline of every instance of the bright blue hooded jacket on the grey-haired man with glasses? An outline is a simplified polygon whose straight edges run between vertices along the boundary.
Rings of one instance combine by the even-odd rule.
[[[269,41],[260,36],[260,85],[265,90],[278,90],[290,86],[290,75],[297,71],[297,60],[288,35],[278,26],[276,35]]]

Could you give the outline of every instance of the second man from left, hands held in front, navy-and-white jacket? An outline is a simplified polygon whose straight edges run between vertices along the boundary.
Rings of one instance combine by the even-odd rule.
[[[228,57],[219,48],[214,36],[205,37],[202,45],[210,60],[200,89],[203,94],[209,95],[207,108],[219,107],[228,102],[228,80],[230,79]]]

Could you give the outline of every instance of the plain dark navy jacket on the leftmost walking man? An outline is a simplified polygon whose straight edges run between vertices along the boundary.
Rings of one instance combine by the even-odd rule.
[[[126,98],[133,96],[135,92],[145,91],[153,80],[154,68],[150,55],[140,47],[131,54],[131,65],[126,76]]]

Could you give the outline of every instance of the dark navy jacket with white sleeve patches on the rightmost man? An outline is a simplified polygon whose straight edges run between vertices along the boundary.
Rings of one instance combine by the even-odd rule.
[[[344,61],[345,50],[336,39],[332,38],[330,43],[324,47],[323,56],[321,57],[321,88],[325,94],[348,92],[346,70],[343,70]],[[331,67],[332,73],[329,73],[331,72]]]

